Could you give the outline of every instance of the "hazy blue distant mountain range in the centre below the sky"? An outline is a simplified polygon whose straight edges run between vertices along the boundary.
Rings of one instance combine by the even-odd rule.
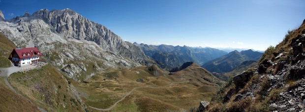
[[[227,53],[213,48],[191,48],[187,46],[147,45],[137,44],[145,53],[152,57],[161,68],[172,69],[184,62],[192,61],[203,64],[209,60],[226,55]]]

